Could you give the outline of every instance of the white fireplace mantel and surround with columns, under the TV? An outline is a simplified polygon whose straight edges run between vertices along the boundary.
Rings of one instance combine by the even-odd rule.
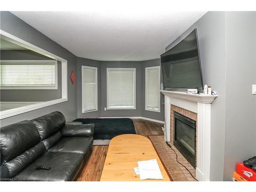
[[[184,110],[185,116],[197,121],[196,178],[209,181],[210,178],[210,110],[218,95],[187,94],[185,92],[161,91],[164,94],[165,139],[173,142],[171,131],[171,110]],[[172,106],[172,108],[171,108]],[[175,110],[175,111],[176,111]],[[192,113],[189,113],[192,112]],[[187,114],[186,114],[187,113]],[[172,133],[171,133],[172,132]],[[171,139],[172,138],[172,139]]]

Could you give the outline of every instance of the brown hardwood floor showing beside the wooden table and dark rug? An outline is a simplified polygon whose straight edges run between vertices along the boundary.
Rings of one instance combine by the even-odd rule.
[[[143,136],[163,135],[163,124],[144,119],[133,119],[136,133]],[[92,155],[84,165],[77,181],[99,181],[108,152],[108,145],[94,145]]]

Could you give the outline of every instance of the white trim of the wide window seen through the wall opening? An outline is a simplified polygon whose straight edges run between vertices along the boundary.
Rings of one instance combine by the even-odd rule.
[[[55,66],[55,86],[54,87],[40,87],[40,86],[0,86],[0,90],[57,90],[58,89],[58,62],[56,60],[0,60],[2,65],[5,65],[5,62],[15,63],[15,65],[20,65],[20,63],[49,63],[53,62]]]

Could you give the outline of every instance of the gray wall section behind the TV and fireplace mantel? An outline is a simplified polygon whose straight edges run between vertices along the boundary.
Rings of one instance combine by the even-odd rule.
[[[225,12],[207,12],[166,50],[197,28],[203,81],[216,90],[218,97],[211,105],[211,173],[210,180],[223,180],[225,134]]]

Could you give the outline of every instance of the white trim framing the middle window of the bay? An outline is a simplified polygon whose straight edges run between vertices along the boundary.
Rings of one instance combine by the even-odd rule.
[[[109,108],[109,71],[134,70],[134,107],[133,108]],[[106,110],[136,110],[136,68],[106,68]]]

